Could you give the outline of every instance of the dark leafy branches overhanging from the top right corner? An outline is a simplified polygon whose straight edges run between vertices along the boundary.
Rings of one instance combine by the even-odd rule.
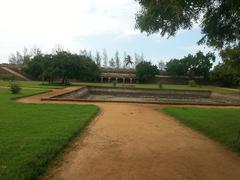
[[[136,28],[149,34],[174,36],[180,29],[191,29],[201,20],[203,37],[199,43],[223,48],[235,47],[240,40],[239,0],[136,0],[141,10]]]

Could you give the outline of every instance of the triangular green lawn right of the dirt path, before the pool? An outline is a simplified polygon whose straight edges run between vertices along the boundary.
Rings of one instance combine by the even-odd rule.
[[[233,151],[240,152],[240,109],[168,107],[162,111]]]

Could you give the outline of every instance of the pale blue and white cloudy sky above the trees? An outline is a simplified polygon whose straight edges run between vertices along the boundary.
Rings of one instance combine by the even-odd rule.
[[[71,52],[105,48],[109,57],[116,50],[120,56],[143,53],[155,64],[214,51],[197,45],[202,37],[198,25],[170,38],[141,33],[135,29],[139,10],[134,0],[0,0],[0,63],[24,47],[50,53],[58,45]]]

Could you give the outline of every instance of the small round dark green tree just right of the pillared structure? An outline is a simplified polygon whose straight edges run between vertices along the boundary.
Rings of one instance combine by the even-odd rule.
[[[151,81],[158,73],[157,66],[151,62],[143,61],[136,66],[136,75],[140,83]]]

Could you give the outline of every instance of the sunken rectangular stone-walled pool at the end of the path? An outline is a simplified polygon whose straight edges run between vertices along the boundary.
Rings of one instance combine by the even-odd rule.
[[[140,89],[113,87],[79,87],[43,101],[118,102],[180,105],[239,106],[240,96],[197,90]]]

